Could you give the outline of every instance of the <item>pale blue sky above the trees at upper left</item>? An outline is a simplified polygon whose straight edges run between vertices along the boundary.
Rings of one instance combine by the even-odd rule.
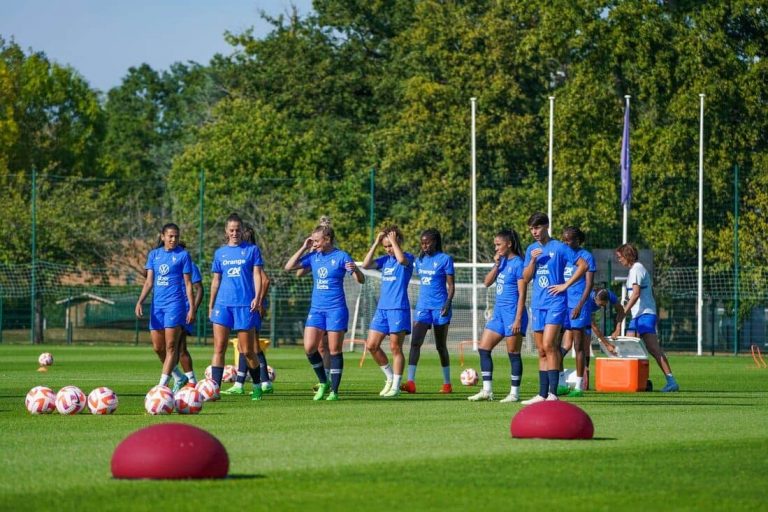
[[[225,31],[253,27],[262,37],[270,25],[259,12],[289,14],[292,5],[300,15],[312,9],[311,0],[0,0],[0,36],[72,66],[106,92],[131,66],[207,64],[231,52]]]

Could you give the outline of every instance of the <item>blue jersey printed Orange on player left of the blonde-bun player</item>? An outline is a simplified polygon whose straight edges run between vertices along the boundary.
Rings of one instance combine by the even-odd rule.
[[[218,306],[250,306],[256,298],[253,287],[253,267],[263,267],[259,247],[242,242],[240,245],[223,245],[216,249],[211,272],[221,274],[221,284],[216,294]]]

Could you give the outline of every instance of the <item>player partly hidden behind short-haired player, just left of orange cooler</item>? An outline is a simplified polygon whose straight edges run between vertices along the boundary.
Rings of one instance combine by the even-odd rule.
[[[576,385],[568,394],[570,397],[582,396],[584,377],[588,367],[586,361],[589,354],[590,340],[587,337],[587,329],[589,329],[592,322],[592,312],[584,306],[587,304],[592,292],[597,265],[595,264],[595,258],[592,257],[592,253],[582,247],[585,239],[584,232],[576,226],[568,226],[563,230],[563,243],[573,249],[576,260],[581,259],[587,264],[587,271],[566,292],[568,313],[565,315],[563,323],[565,333],[563,334],[563,347],[560,349],[560,352],[562,357],[565,357],[565,354],[568,353],[571,347],[576,352]],[[578,269],[576,260],[568,261],[565,265],[563,277],[566,280],[570,279]]]

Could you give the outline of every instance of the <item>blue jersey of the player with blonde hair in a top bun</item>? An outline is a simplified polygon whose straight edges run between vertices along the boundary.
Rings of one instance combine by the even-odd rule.
[[[333,248],[329,253],[314,251],[302,256],[301,266],[312,270],[312,307],[315,309],[336,309],[347,307],[344,298],[344,276],[346,265],[352,257],[341,249]]]

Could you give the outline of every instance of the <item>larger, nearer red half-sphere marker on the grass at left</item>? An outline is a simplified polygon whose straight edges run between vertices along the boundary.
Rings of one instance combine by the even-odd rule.
[[[225,478],[228,472],[224,445],[205,430],[181,423],[137,430],[112,454],[115,478]]]

